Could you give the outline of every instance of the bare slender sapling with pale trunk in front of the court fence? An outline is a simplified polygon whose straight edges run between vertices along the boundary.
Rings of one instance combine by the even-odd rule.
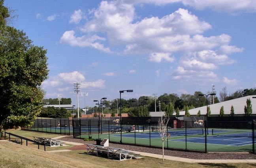
[[[163,163],[164,163],[164,141],[168,140],[170,137],[170,134],[167,131],[167,125],[169,122],[169,118],[159,118],[158,120],[158,133],[160,134],[161,140],[162,140],[162,150],[163,150]]]

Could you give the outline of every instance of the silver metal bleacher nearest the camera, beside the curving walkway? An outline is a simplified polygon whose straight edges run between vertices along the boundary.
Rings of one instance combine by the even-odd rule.
[[[116,147],[104,147],[92,144],[85,145],[87,146],[87,154],[96,154],[96,156],[107,155],[108,159],[117,158],[119,161],[134,157],[134,153]]]

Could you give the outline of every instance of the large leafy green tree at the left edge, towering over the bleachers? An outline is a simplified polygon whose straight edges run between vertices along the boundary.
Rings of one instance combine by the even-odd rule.
[[[48,70],[46,50],[6,24],[10,15],[3,4],[0,0],[0,129],[8,129],[30,125],[38,116]]]

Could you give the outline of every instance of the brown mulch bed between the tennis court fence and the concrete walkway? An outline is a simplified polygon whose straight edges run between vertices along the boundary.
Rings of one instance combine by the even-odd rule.
[[[64,138],[59,138],[58,140],[96,145],[96,141],[84,141],[82,139],[73,138],[73,136],[66,136]],[[159,148],[141,147],[141,146],[124,145],[124,144],[113,144],[113,143],[109,143],[109,146],[131,150],[131,151],[140,151],[140,152],[155,153],[155,154],[162,155],[162,149],[159,149]],[[86,146],[78,145],[78,146],[70,147],[69,149],[70,150],[86,150]],[[190,159],[256,159],[256,154],[252,154],[252,153],[199,153],[199,152],[175,151],[170,149],[165,149],[164,155],[174,156],[174,157],[184,157],[184,158],[190,158]]]

